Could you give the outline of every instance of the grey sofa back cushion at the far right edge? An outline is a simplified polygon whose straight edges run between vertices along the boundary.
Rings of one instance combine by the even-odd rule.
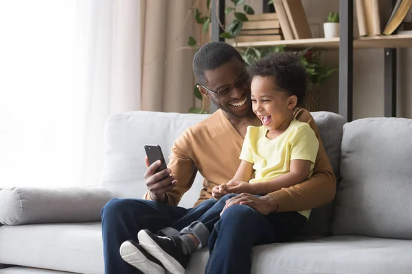
[[[345,125],[335,235],[412,239],[411,136],[411,119],[360,119]]]

